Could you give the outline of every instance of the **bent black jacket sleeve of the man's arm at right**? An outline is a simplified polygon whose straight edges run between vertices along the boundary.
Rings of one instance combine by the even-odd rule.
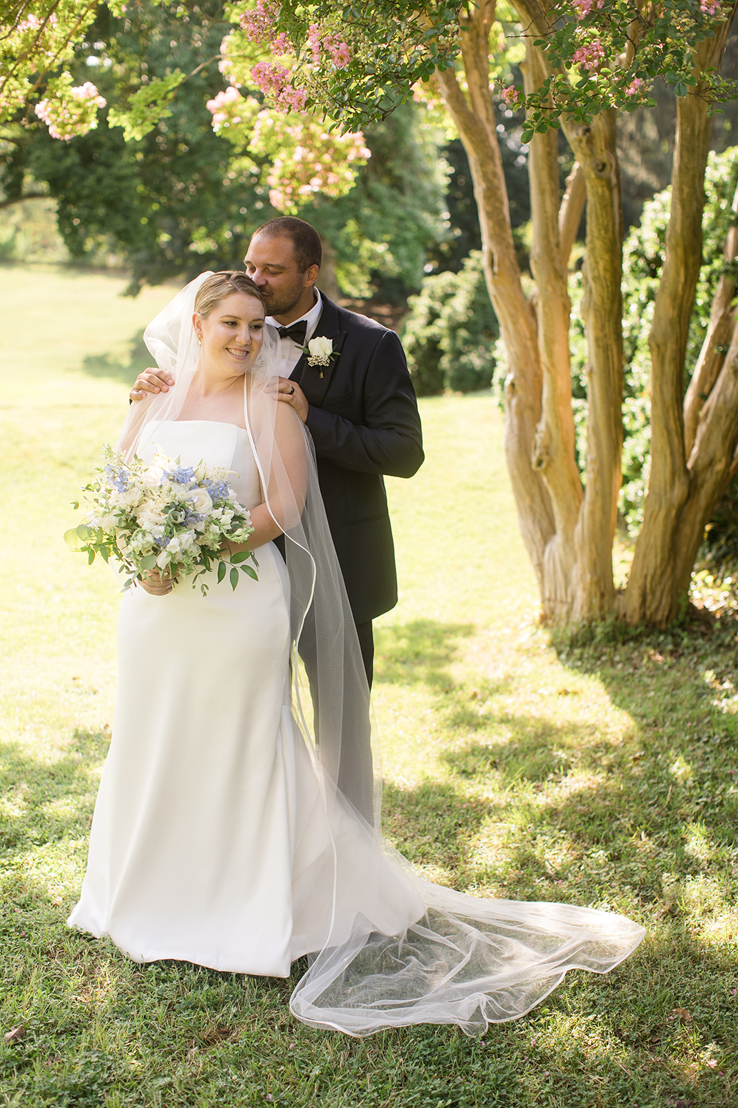
[[[405,351],[394,331],[385,331],[374,348],[361,401],[363,423],[310,406],[315,453],[344,469],[412,478],[424,459],[423,434]]]

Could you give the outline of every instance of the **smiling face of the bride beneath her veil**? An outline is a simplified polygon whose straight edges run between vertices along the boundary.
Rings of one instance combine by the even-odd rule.
[[[232,293],[208,316],[195,312],[193,324],[202,341],[202,359],[227,376],[246,373],[257,360],[264,337],[264,309],[246,293]]]

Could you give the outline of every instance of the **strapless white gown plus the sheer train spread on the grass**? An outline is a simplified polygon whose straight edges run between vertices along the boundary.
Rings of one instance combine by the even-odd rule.
[[[141,456],[235,471],[262,499],[246,431],[152,422]],[[523,1015],[569,968],[606,972],[644,932],[561,904],[485,901],[422,880],[323,770],[290,707],[289,587],[272,543],[259,579],[207,596],[132,588],[118,626],[113,739],[70,923],[136,962],[287,976],[291,1007],[350,1034],[410,1023],[479,1033]]]

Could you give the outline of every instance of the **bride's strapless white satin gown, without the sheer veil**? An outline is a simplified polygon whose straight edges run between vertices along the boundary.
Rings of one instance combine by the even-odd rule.
[[[206,421],[152,423],[155,448],[184,465],[232,470],[239,501],[261,501],[246,431]],[[136,962],[180,958],[214,970],[287,977],[332,924],[333,844],[344,864],[343,923],[381,906],[389,933],[423,911],[371,838],[335,802],[290,711],[287,571],[273,543],[259,579],[232,591],[211,574],[166,596],[132,588],[118,619],[118,691],[87,872],[69,922],[107,934]],[[371,855],[371,856],[370,856]],[[371,897],[368,890],[372,890]],[[374,913],[376,914],[376,913]]]

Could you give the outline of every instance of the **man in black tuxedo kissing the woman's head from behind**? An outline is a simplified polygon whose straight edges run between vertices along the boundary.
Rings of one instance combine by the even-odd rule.
[[[424,458],[405,353],[394,331],[340,308],[315,288],[321,240],[303,219],[282,216],[259,227],[245,260],[263,295],[267,322],[280,335],[279,399],[294,408],[315,445],[325,514],[371,685],[372,619],[397,603],[383,475],[410,478]],[[302,353],[314,338],[330,340],[328,366],[311,366]],[[147,370],[131,397],[166,391],[167,381],[174,383],[163,371]],[[310,669],[308,658],[305,664]],[[351,730],[366,733],[368,742],[367,724]],[[352,799],[360,811],[371,811],[371,800]]]

